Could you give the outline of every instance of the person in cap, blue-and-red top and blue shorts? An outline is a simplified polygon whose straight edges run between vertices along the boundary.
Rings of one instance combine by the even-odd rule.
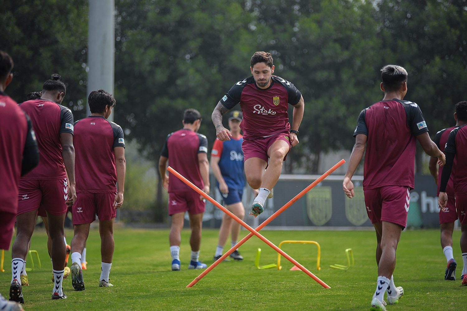
[[[245,207],[241,202],[243,187],[245,187],[245,177],[243,170],[243,151],[241,144],[243,136],[240,134],[240,123],[242,120],[241,111],[232,111],[229,116],[230,140],[224,142],[217,138],[212,146],[211,167],[216,176],[217,187],[224,200],[226,208],[243,219]],[[257,191],[256,191],[257,192]],[[232,247],[237,244],[240,233],[240,224],[234,221],[229,215],[224,214],[222,224],[219,229],[219,242],[214,255],[214,260],[222,256],[224,244],[231,233]],[[238,250],[230,254],[235,260],[242,260]]]

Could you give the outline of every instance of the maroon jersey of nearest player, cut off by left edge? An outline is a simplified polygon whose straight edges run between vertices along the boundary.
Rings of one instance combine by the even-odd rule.
[[[28,145],[35,145],[31,122],[13,99],[0,92],[0,212],[18,210],[21,160]]]

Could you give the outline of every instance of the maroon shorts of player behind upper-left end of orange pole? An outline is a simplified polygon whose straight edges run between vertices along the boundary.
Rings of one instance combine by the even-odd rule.
[[[197,192],[171,192],[169,193],[169,215],[187,212],[199,214],[205,211],[205,199]]]

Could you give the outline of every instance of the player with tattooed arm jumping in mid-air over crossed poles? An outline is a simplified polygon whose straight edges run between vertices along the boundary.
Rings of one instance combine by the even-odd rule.
[[[298,127],[304,113],[302,94],[289,81],[272,76],[272,62],[271,54],[256,52],[251,57],[253,76],[235,83],[212,111],[217,138],[226,141],[230,140],[230,132],[222,125],[222,115],[240,104],[245,174],[250,187],[260,190],[250,211],[255,217],[263,212],[266,198],[271,197],[290,147],[298,144]],[[288,104],[294,107],[291,127]]]

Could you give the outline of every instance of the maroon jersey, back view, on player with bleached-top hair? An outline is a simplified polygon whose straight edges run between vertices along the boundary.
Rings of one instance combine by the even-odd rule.
[[[428,131],[417,104],[391,99],[361,111],[354,136],[368,137],[363,189],[414,187],[416,136]]]

